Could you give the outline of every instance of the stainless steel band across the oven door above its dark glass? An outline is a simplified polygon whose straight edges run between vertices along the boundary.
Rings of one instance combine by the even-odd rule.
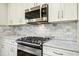
[[[18,44],[18,49],[34,55],[41,56],[41,50]]]

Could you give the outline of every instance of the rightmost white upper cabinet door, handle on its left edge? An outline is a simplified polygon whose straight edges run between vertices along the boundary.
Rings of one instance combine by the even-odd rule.
[[[62,20],[77,20],[77,3],[61,4]]]

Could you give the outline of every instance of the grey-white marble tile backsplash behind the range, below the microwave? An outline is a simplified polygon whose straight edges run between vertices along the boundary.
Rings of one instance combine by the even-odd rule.
[[[56,39],[75,40],[77,22],[15,26],[17,35],[22,36],[54,36]]]

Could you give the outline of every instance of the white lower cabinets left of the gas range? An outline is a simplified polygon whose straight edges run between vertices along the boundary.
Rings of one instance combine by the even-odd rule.
[[[17,56],[17,46],[0,43],[0,56]]]

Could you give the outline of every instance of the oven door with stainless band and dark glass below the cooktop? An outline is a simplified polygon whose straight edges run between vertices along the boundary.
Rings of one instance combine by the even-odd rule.
[[[17,56],[41,56],[41,50],[18,44]]]

